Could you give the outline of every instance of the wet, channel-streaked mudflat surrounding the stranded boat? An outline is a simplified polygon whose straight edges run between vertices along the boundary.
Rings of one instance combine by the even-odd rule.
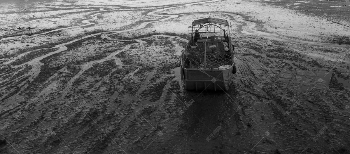
[[[349,28],[281,2],[1,4],[0,153],[350,153]],[[237,73],[186,91],[187,27],[209,12],[232,24]]]

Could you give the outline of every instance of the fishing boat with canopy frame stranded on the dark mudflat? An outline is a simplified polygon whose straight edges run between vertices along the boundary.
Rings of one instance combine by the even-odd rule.
[[[181,54],[181,80],[187,90],[225,90],[236,73],[227,20],[204,18],[188,27],[188,44]]]

